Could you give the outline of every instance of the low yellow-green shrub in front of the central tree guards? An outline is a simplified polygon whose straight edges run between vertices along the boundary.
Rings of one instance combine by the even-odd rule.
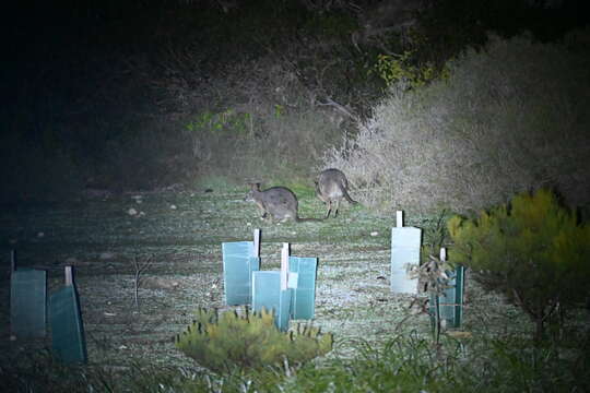
[[[332,335],[319,329],[298,325],[282,333],[274,314],[262,309],[239,315],[227,311],[199,309],[187,331],[176,336],[176,347],[200,365],[215,371],[263,366],[302,365],[332,349]],[[285,360],[286,359],[286,360]]]

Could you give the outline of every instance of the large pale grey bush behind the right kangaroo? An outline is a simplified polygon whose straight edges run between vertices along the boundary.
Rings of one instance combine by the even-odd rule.
[[[398,84],[324,165],[363,188],[365,203],[386,209],[479,210],[542,186],[588,203],[590,57],[582,48],[491,37],[485,50],[448,63],[448,80],[410,91]]]

